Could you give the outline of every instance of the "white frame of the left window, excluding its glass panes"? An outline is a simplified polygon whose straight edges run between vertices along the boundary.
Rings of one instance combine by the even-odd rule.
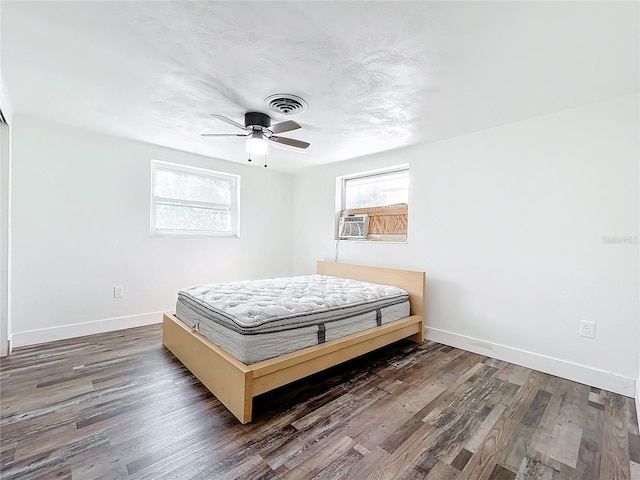
[[[202,202],[197,200],[185,200],[159,197],[155,194],[156,172],[158,170],[175,172],[198,177],[214,178],[228,182],[231,189],[231,202],[229,204],[216,202]],[[217,237],[240,238],[240,175],[235,175],[206,168],[192,167],[178,163],[151,160],[151,201],[149,218],[149,236],[151,237]],[[205,207],[212,210],[228,211],[231,216],[231,230],[216,232],[213,230],[172,230],[156,227],[156,208],[158,202],[171,202],[184,207]]]

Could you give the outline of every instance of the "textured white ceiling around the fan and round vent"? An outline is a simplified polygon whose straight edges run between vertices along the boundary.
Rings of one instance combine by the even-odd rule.
[[[311,143],[294,172],[638,91],[638,2],[1,2],[16,114],[232,161],[202,138],[268,113]]]

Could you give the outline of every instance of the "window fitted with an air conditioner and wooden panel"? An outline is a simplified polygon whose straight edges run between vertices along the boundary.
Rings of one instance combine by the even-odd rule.
[[[408,165],[340,177],[338,188],[339,216],[345,217],[338,224],[338,238],[406,242]],[[360,224],[356,230],[355,223]]]

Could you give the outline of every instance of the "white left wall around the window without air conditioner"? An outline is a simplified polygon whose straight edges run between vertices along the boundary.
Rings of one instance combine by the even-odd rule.
[[[183,286],[290,274],[289,175],[19,114],[13,139],[15,346],[160,321]],[[241,175],[241,238],[151,238],[152,159]]]

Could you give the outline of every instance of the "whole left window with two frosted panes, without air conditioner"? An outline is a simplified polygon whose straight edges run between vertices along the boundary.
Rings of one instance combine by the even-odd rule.
[[[238,237],[240,177],[151,162],[151,235]]]

